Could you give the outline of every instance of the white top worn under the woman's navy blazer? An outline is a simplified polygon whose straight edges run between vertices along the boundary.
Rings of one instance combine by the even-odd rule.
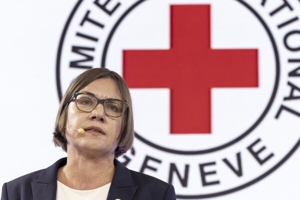
[[[57,181],[57,200],[78,199],[78,200],[106,200],[111,182],[102,187],[91,190],[77,190]]]

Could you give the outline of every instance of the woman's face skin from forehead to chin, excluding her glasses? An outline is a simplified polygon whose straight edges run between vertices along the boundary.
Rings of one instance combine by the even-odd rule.
[[[99,99],[122,99],[121,93],[113,79],[96,79],[79,92],[92,93]],[[117,138],[121,132],[122,116],[106,116],[102,104],[90,113],[77,109],[72,101],[67,112],[67,127],[83,128],[84,133],[66,128],[68,153],[71,150],[95,152],[102,156],[113,156],[118,146]]]

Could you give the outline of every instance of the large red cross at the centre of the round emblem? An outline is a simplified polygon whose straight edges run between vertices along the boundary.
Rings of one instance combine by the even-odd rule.
[[[170,38],[169,50],[125,50],[124,78],[170,88],[171,133],[210,133],[211,88],[258,87],[257,50],[211,49],[208,5],[171,6]]]

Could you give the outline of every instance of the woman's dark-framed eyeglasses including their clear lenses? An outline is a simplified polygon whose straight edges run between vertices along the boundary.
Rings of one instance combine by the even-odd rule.
[[[87,93],[75,93],[72,99],[78,110],[82,112],[92,112],[98,104],[102,104],[104,112],[109,117],[120,117],[128,107],[127,102],[119,99],[98,99],[97,97]]]

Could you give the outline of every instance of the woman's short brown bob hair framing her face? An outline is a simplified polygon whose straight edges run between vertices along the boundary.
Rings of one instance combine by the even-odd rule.
[[[110,71],[107,68],[94,68],[85,71],[80,74],[69,86],[64,97],[62,98],[57,117],[55,122],[55,131],[53,133],[53,142],[55,146],[60,146],[64,151],[67,152],[67,139],[65,134],[65,127],[67,121],[67,111],[69,102],[74,93],[79,92],[81,89],[86,87],[89,83],[100,78],[111,78],[116,82],[117,87],[122,95],[122,101],[128,102],[128,107],[123,113],[121,133],[117,140],[119,141],[118,146],[115,150],[115,157],[127,152],[132,148],[134,139],[133,129],[133,113],[132,104],[129,89],[124,79],[116,72]]]

